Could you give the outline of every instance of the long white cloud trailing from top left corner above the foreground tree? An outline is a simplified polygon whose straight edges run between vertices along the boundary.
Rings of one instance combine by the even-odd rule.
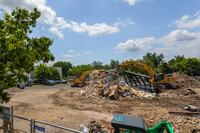
[[[66,28],[78,33],[87,32],[89,36],[108,35],[119,32],[118,26],[108,25],[104,22],[93,25],[88,25],[86,22],[67,22],[63,17],[56,16],[56,12],[46,5],[46,0],[0,0],[0,9],[8,13],[11,13],[12,9],[15,9],[17,6],[26,8],[29,11],[36,7],[41,12],[39,22],[48,24],[50,26],[49,31],[59,38],[64,38],[62,31]],[[133,23],[130,22],[130,24]]]

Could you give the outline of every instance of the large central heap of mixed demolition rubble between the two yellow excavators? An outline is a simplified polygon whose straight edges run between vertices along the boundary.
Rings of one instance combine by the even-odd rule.
[[[91,80],[87,84],[81,91],[81,94],[87,97],[102,96],[110,99],[118,99],[120,96],[155,97],[155,94],[131,88],[122,78],[118,78],[116,74],[106,70],[93,71]]]

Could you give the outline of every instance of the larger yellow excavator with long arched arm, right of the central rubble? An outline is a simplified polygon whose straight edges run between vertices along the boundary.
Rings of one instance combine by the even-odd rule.
[[[121,65],[118,65],[116,67],[116,71],[120,72],[121,71],[120,67],[126,67],[126,66],[134,66],[146,70],[149,73],[150,82],[155,86],[157,92],[160,92],[162,91],[162,89],[166,88],[176,88],[174,83],[177,82],[177,77],[172,75],[166,76],[164,73],[156,74],[155,71],[150,66],[139,62],[135,61],[123,62]]]

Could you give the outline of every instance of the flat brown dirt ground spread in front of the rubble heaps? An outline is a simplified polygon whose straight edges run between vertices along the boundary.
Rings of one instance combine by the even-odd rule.
[[[200,97],[187,93],[187,89],[168,90],[165,95],[153,99],[121,97],[119,100],[88,98],[80,94],[81,90],[83,88],[71,88],[66,84],[26,87],[11,93],[8,104],[14,107],[15,115],[73,129],[87,125],[91,119],[111,121],[114,114],[124,114],[143,118],[147,127],[164,120],[170,122],[177,133],[200,132],[200,118],[168,113],[181,110],[177,106],[183,103],[200,106]],[[175,93],[180,95],[173,96]]]

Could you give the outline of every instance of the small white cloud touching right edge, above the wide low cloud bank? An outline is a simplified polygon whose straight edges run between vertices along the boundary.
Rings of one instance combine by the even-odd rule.
[[[179,28],[200,28],[200,11],[196,12],[193,16],[184,15],[180,20],[174,22]]]

